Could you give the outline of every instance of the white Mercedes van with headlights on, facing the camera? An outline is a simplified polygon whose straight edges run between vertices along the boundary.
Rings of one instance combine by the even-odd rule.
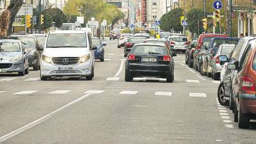
[[[52,76],[81,76],[92,80],[95,49],[86,31],[49,31],[41,58],[41,80]]]

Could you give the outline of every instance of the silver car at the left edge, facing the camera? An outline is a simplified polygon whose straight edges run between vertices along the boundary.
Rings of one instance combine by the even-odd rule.
[[[0,73],[29,73],[28,52],[20,40],[0,40]]]

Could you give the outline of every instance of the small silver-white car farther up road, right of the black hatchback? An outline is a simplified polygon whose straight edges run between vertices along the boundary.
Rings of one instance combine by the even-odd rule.
[[[188,38],[185,36],[173,36],[169,40],[173,51],[185,53],[189,47]]]

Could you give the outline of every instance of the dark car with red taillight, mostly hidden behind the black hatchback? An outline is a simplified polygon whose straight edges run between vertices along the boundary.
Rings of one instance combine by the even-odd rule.
[[[126,57],[129,54],[134,44],[143,43],[144,40],[146,39],[147,39],[146,37],[139,37],[139,36],[129,37],[127,42],[124,45],[124,57]]]

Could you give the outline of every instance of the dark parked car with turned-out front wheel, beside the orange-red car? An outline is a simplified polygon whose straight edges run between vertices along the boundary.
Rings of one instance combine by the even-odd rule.
[[[236,65],[239,65],[241,63],[241,58],[243,56],[244,50],[246,49],[249,42],[252,40],[255,40],[255,37],[252,36],[246,36],[244,38],[241,38],[239,42],[237,43],[234,50],[230,53],[229,58],[227,61],[221,60],[230,63],[236,63]],[[224,68],[224,67],[223,67]],[[234,110],[234,77],[237,74],[237,70],[230,70],[228,67],[225,67],[225,74],[223,74],[223,85],[224,85],[224,91],[225,91],[225,99],[228,100],[229,108],[231,110]]]

